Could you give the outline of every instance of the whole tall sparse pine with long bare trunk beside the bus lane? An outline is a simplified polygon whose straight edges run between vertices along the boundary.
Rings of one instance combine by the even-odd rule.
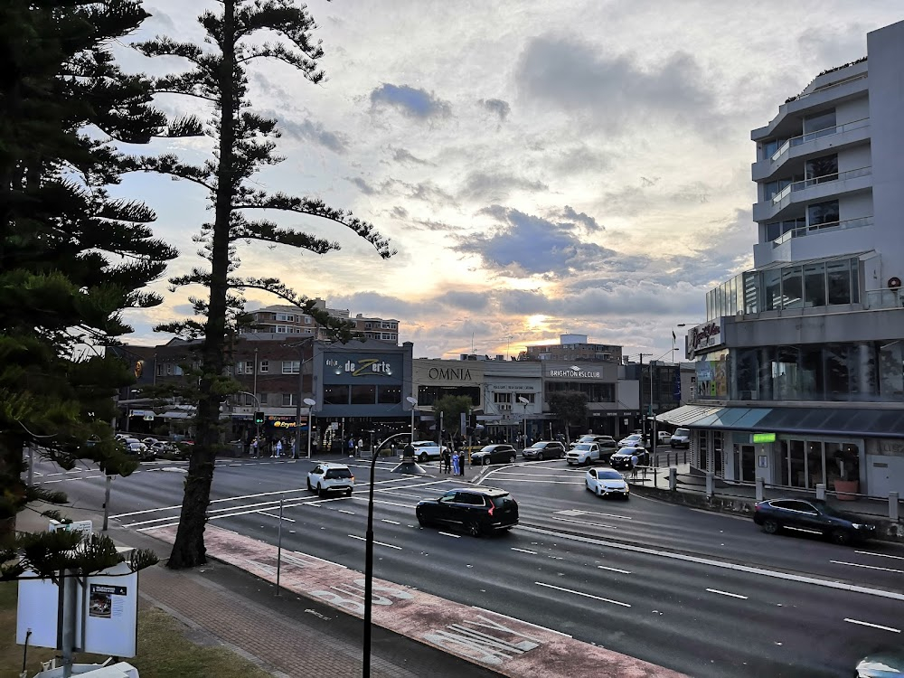
[[[332,221],[369,242],[377,254],[389,258],[394,251],[372,224],[351,212],[324,202],[284,193],[260,191],[251,179],[260,169],[277,164],[277,122],[253,113],[250,108],[247,69],[251,61],[267,59],[285,63],[310,82],[321,82],[324,71],[318,66],[323,56],[320,41],[314,39],[314,19],[304,5],[293,0],[222,0],[221,10],[204,12],[198,17],[207,36],[203,44],[179,42],[169,37],[135,45],[149,57],[179,57],[188,70],[157,78],[155,90],[184,94],[213,104],[212,119],[204,127],[214,139],[212,160],[202,165],[184,163],[174,155],[143,156],[134,161],[137,171],[168,174],[202,186],[209,192],[211,223],[204,224],[197,236],[199,254],[210,268],[171,279],[174,287],[207,287],[206,301],[193,299],[196,313],[204,322],[188,320],[163,325],[158,329],[185,337],[203,339],[202,376],[196,417],[193,455],[186,478],[179,530],[170,567],[192,567],[206,561],[203,545],[205,514],[210,501],[213,461],[219,445],[219,405],[223,391],[223,372],[228,348],[236,325],[243,319],[243,292],[248,288],[266,290],[312,315],[340,341],[355,336],[353,325],[335,319],[317,309],[314,301],[298,295],[275,278],[242,278],[238,247],[242,242],[259,240],[285,245],[315,254],[339,250],[336,240],[317,238],[292,227],[278,226],[250,213],[278,211],[314,216]],[[264,33],[269,42],[255,42]],[[233,391],[235,387],[232,387]]]

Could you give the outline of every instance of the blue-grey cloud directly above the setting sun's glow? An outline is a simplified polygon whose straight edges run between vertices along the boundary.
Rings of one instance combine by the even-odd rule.
[[[490,234],[461,238],[453,249],[476,255],[485,268],[514,278],[560,278],[573,270],[613,262],[618,256],[614,250],[581,240],[572,232],[571,223],[542,219],[500,205],[478,214],[499,221],[501,227]]]

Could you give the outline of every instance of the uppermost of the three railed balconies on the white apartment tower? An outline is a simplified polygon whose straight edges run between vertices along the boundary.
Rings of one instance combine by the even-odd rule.
[[[755,182],[772,181],[777,174],[802,174],[805,161],[827,151],[841,151],[851,146],[861,146],[870,140],[870,118],[809,132],[788,139],[768,158],[750,167]]]

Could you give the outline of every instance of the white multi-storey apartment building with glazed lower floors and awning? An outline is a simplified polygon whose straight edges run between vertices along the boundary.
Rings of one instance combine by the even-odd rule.
[[[659,417],[716,476],[904,493],[904,22],[867,47],[751,132],[755,268],[707,294],[696,395]]]

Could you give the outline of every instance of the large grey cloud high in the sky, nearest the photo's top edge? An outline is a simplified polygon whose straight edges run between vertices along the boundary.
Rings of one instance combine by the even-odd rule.
[[[713,117],[715,98],[694,57],[674,52],[652,68],[631,55],[607,56],[588,42],[551,35],[527,43],[515,68],[521,92],[543,105],[589,113],[597,122],[621,127],[639,113],[654,112],[657,121]]]

